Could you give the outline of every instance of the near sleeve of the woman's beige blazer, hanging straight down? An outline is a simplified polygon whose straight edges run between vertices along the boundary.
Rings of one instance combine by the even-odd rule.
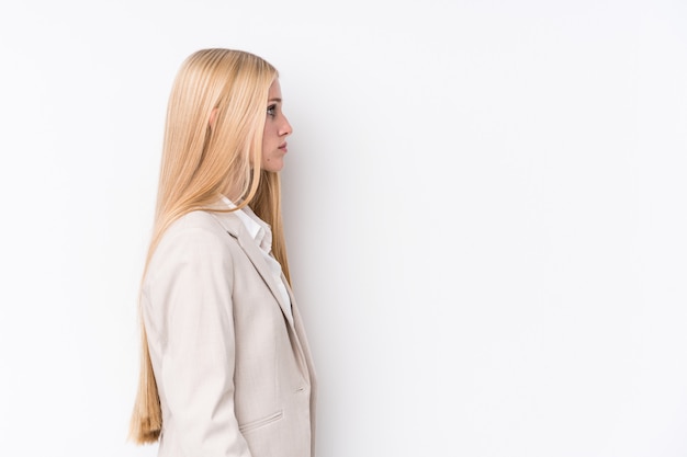
[[[225,243],[198,227],[164,237],[144,288],[161,401],[188,456],[250,456],[234,410],[233,265]]]

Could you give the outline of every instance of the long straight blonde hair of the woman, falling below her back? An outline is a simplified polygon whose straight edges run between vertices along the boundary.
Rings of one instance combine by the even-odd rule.
[[[143,277],[167,228],[190,212],[210,209],[224,194],[238,208],[250,204],[271,226],[273,254],[291,281],[279,174],[259,167],[268,92],[278,76],[269,62],[241,50],[201,49],[184,60],[167,108],[155,222]],[[159,438],[162,413],[140,304],[138,308],[140,373],[129,438],[145,444]]]

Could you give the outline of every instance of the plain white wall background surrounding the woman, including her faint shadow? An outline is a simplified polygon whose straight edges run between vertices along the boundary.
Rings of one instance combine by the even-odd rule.
[[[282,73],[318,455],[687,456],[687,3],[4,1],[0,455],[125,441],[171,80]]]

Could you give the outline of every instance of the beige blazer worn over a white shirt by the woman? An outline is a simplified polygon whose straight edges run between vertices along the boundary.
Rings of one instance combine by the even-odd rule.
[[[292,313],[235,214],[194,212],[168,229],[142,298],[158,456],[314,455],[315,375],[289,295]]]

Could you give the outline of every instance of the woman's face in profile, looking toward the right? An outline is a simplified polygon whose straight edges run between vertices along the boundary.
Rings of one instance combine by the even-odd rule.
[[[267,119],[262,132],[262,170],[280,171],[284,167],[286,137],[293,129],[282,113],[281,87],[279,80],[270,85],[267,98]]]

